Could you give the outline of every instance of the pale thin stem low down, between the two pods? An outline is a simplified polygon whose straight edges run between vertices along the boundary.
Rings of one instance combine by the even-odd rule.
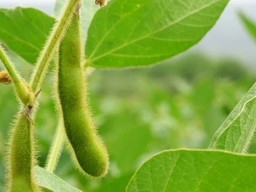
[[[64,136],[62,129],[62,123],[60,123],[56,129],[54,141],[52,142],[51,150],[49,151],[47,158],[46,170],[49,172],[54,171],[61,154]]]

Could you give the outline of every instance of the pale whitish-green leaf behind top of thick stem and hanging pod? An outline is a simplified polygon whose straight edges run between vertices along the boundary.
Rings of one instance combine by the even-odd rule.
[[[66,0],[56,0],[55,8],[54,8],[54,15],[57,16],[62,9]],[[85,42],[87,38],[87,31],[90,26],[91,20],[95,12],[99,9],[99,5],[95,4],[95,0],[83,0],[83,5],[81,6],[80,13],[81,13],[81,36],[82,41]]]

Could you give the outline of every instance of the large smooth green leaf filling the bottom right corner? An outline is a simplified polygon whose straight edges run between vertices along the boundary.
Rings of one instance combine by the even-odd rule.
[[[255,192],[256,156],[225,151],[169,150],[151,157],[127,192]]]

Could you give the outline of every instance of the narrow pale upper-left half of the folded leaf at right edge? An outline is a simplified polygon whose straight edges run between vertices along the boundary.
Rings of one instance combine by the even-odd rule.
[[[248,102],[250,99],[253,99],[253,97],[256,96],[256,83],[253,84],[253,86],[250,88],[250,90],[246,93],[246,95],[241,99],[241,101],[236,105],[236,107],[233,109],[233,111],[229,114],[227,119],[224,121],[224,123],[221,125],[221,127],[216,131],[215,135],[212,138],[212,141],[209,145],[209,148],[214,148],[215,142],[218,140],[218,138],[221,136],[221,134],[224,133],[224,131],[227,129],[227,127],[236,119],[236,117],[241,112],[244,104]],[[232,125],[233,127],[233,125]],[[240,128],[238,127],[238,130],[240,131]],[[236,131],[236,133],[237,133]]]

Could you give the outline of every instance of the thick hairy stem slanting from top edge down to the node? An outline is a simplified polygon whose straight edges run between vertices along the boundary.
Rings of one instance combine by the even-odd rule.
[[[73,13],[76,11],[78,6],[81,6],[81,0],[69,0],[64,11],[57,19],[55,26],[50,32],[46,45],[40,52],[38,61],[36,63],[35,71],[32,74],[32,79],[30,82],[32,91],[36,92],[41,82],[43,81],[49,63],[54,55],[54,51],[60,44],[63,36],[65,35],[66,29],[70,25]]]

